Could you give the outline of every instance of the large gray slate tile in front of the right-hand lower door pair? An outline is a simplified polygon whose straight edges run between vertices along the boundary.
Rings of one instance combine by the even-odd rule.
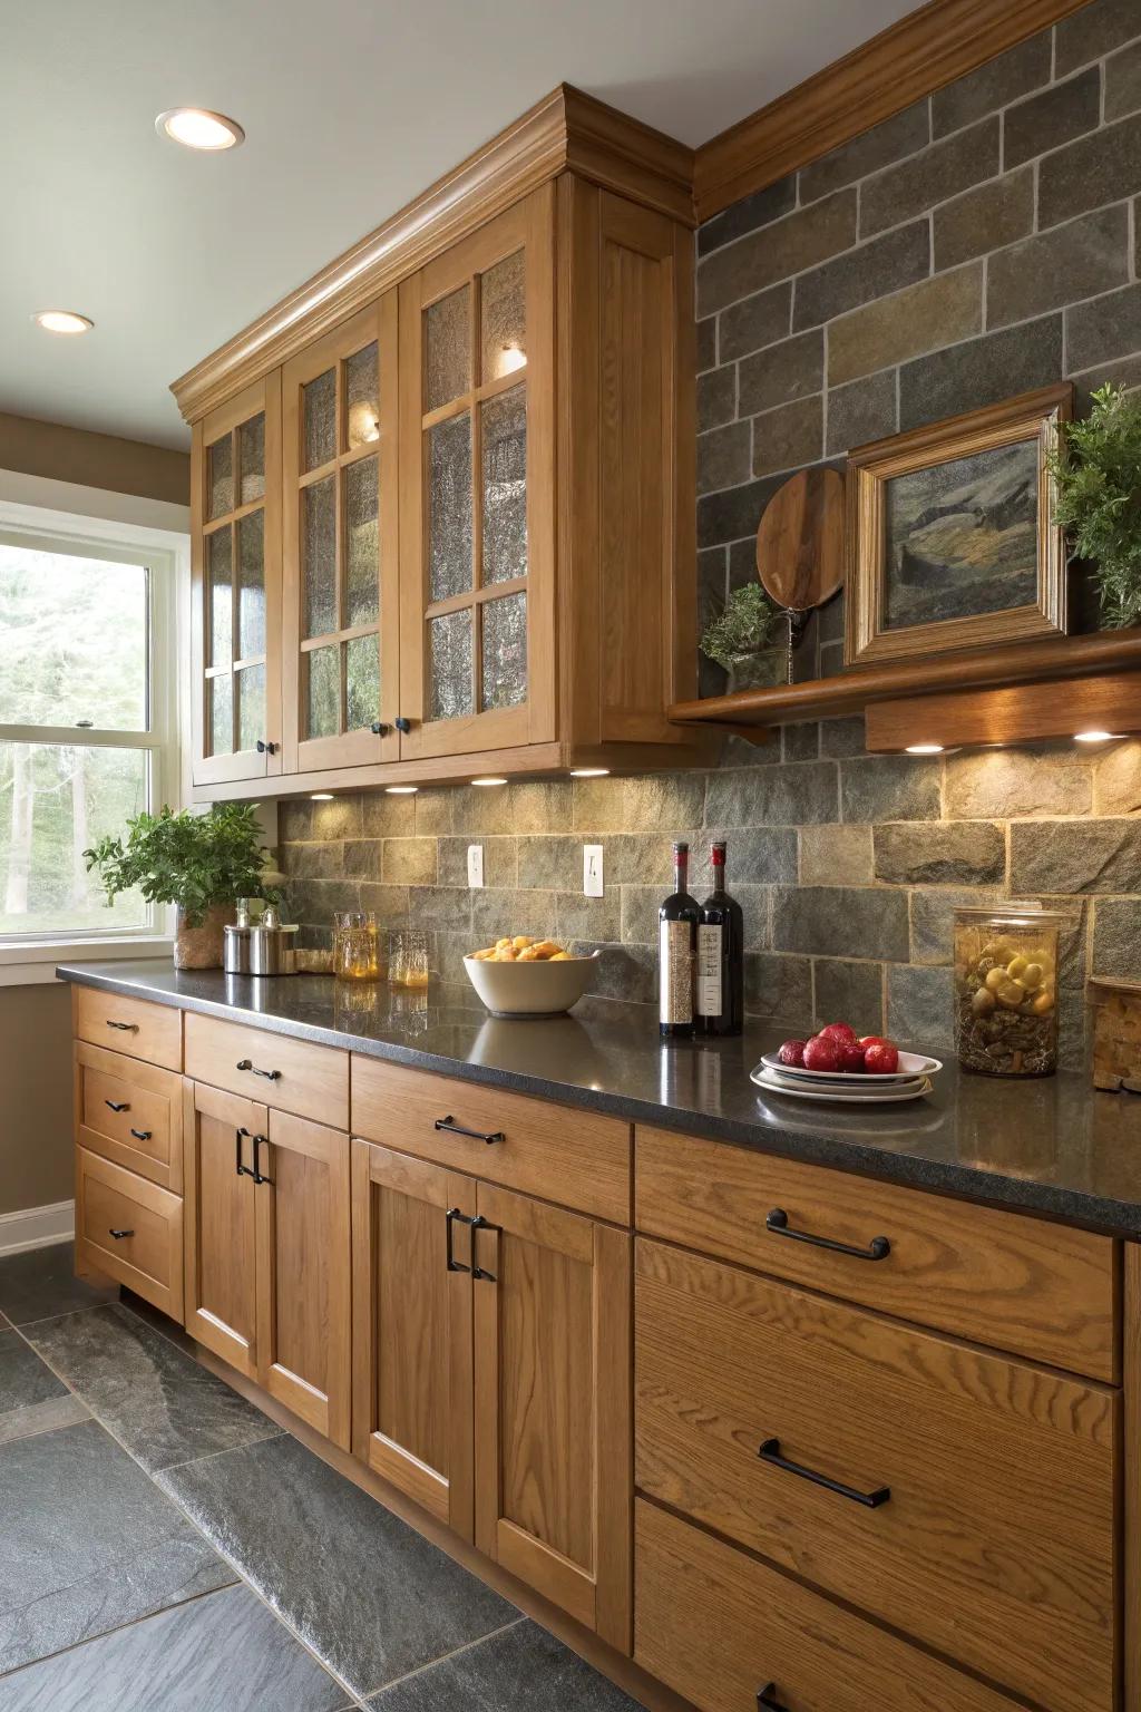
[[[517,1614],[296,1438],[190,1462],[157,1481],[358,1695]]]

